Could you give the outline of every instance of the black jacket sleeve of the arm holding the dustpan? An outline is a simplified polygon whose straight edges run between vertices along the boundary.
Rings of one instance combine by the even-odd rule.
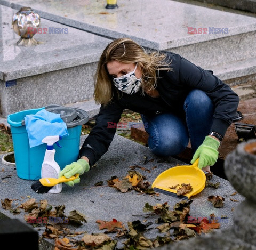
[[[223,137],[235,117],[239,103],[238,95],[213,72],[204,70],[180,57],[179,77],[183,84],[206,92],[214,103],[215,111],[211,131]]]

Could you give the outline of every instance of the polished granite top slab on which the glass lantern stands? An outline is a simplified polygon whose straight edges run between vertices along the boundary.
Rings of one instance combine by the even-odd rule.
[[[34,35],[39,45],[17,46],[19,36],[11,25],[17,10],[0,5],[0,79],[4,82],[97,62],[110,42],[107,38],[41,18],[40,27],[47,31]],[[49,27],[60,28],[63,34],[50,33]]]

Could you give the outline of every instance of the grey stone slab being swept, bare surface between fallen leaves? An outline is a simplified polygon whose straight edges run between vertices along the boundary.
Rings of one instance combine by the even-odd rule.
[[[81,143],[83,143],[85,138],[86,136],[81,136]],[[144,156],[153,160],[144,165]],[[172,157],[169,158],[169,162],[158,163],[160,159],[161,158],[153,155],[149,148],[116,134],[113,142],[110,144],[108,152],[98,160],[96,166],[92,167],[89,172],[81,176],[81,182],[74,187],[62,184],[62,191],[58,194],[46,193],[38,195],[30,188],[34,181],[18,178],[14,166],[6,166],[0,163],[0,197],[1,199],[19,199],[13,201],[13,208],[15,207],[15,203],[21,204],[25,200],[28,200],[28,198],[35,198],[37,202],[47,199],[49,204],[53,207],[65,205],[66,215],[68,215],[70,211],[77,209],[78,212],[86,215],[87,223],[77,228],[76,231],[87,231],[88,233],[103,232],[98,230],[98,224],[95,223],[97,220],[109,221],[115,218],[118,221],[123,221],[126,228],[128,221],[140,220],[143,222],[146,220],[146,222],[143,222],[145,224],[151,221],[153,222],[153,225],[150,226],[152,229],[149,230],[145,236],[153,239],[159,235],[156,229],[158,224],[155,223],[155,216],[147,217],[145,213],[143,213],[145,203],[148,202],[150,205],[156,205],[157,203],[163,204],[167,202],[170,209],[173,209],[173,206],[181,200],[163,194],[159,196],[138,195],[139,193],[134,190],[121,193],[115,188],[109,187],[107,180],[114,175],[118,178],[122,178],[131,170],[130,166],[138,165],[150,170],[149,173],[148,171],[135,168],[136,171],[146,176],[145,181],[153,183],[155,178],[167,168],[177,166],[178,164],[185,164]],[[9,176],[9,178],[7,176]],[[94,184],[100,181],[103,181],[103,186],[95,187]],[[205,187],[201,193],[194,196],[193,202],[190,205],[189,214],[193,217],[209,217],[210,214],[214,213],[214,215],[219,218],[221,224],[220,229],[216,231],[221,231],[233,225],[233,208],[237,207],[237,205],[244,200],[244,197],[238,194],[230,196],[235,190],[227,180],[214,175],[211,182],[220,182],[219,188],[213,189]],[[220,195],[224,197],[224,206],[222,208],[214,208],[212,203],[207,201],[207,197],[210,195]],[[230,198],[238,202],[232,201]],[[21,214],[14,215],[10,213],[10,211],[6,211],[0,207],[0,215],[1,213],[8,217],[15,217],[21,220],[23,220],[23,215],[25,214],[23,209],[21,209]],[[227,219],[221,219],[222,215],[226,215]],[[38,232],[42,235],[44,230],[41,229]],[[114,237],[115,234],[110,234],[109,236]],[[124,240],[124,238],[118,239],[119,244]],[[51,242],[53,243],[54,240],[51,240]],[[121,245],[118,246],[120,248]]]

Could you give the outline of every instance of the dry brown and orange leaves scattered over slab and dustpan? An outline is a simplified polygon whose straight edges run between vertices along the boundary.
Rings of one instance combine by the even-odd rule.
[[[108,186],[116,188],[121,192],[128,192],[135,190],[139,193],[148,193],[150,195],[159,195],[155,193],[150,187],[150,183],[146,181],[146,177],[135,171],[135,168],[140,168],[144,171],[150,171],[145,167],[132,166],[127,175],[123,178],[117,178],[112,176],[110,180],[107,180]],[[212,173],[207,177],[207,181],[212,178]],[[102,186],[103,182],[98,182],[95,186]],[[209,184],[209,183],[208,183]],[[210,187],[218,188],[219,184],[214,184]],[[190,184],[175,185],[169,187],[177,189],[179,195],[183,195],[192,190]],[[230,196],[236,195],[236,192]],[[173,209],[170,209],[167,203],[156,204],[152,206],[148,203],[143,207],[143,212],[149,213],[148,216],[157,216],[156,223],[158,225],[152,225],[152,222],[147,224],[141,223],[136,220],[132,222],[126,222],[125,224],[116,219],[110,221],[97,220],[99,230],[104,230],[103,233],[87,233],[85,231],[76,231],[74,227],[79,227],[83,223],[86,223],[86,216],[79,213],[77,210],[69,212],[68,216],[65,215],[65,205],[55,206],[48,204],[47,200],[40,200],[31,198],[18,205],[14,201],[19,199],[4,199],[1,200],[2,207],[9,210],[13,214],[19,214],[24,212],[24,218],[28,223],[31,223],[33,227],[38,229],[44,229],[42,237],[55,240],[55,250],[82,250],[82,249],[117,249],[118,240],[123,240],[122,248],[118,249],[147,249],[155,248],[169,244],[173,241],[183,240],[190,237],[201,235],[201,233],[207,233],[213,229],[220,228],[220,223],[214,221],[214,214],[210,215],[210,218],[203,218],[201,221],[190,220],[190,204],[193,200],[182,200],[176,203]],[[209,196],[208,200],[216,208],[223,207],[225,199],[221,196]],[[237,201],[230,199],[231,201]],[[19,200],[21,201],[21,200]],[[142,215],[144,216],[144,215]],[[225,217],[225,215],[223,215]],[[227,217],[227,216],[226,216]],[[146,222],[143,221],[143,222]],[[72,225],[72,226],[71,226]],[[158,229],[161,235],[156,236],[154,239],[148,239],[145,237],[145,232],[153,228]],[[114,234],[110,237],[108,234]]]

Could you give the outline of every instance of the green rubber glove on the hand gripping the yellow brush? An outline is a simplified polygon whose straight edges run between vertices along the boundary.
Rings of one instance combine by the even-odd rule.
[[[61,176],[65,176],[66,178],[70,178],[74,174],[83,174],[84,172],[87,172],[90,170],[89,163],[87,163],[84,159],[79,159],[77,162],[73,162],[69,165],[67,165],[63,170],[60,171],[59,178]],[[74,186],[74,184],[77,184],[80,182],[80,177],[78,176],[77,179],[74,181],[68,181],[65,182],[68,186]]]

